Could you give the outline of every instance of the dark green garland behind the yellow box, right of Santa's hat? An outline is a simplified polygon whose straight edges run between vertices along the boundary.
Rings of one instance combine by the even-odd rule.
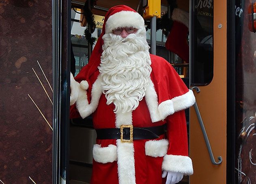
[[[168,5],[170,6],[170,14],[172,17],[172,11],[174,8],[177,7],[176,0],[167,0]],[[172,28],[173,21],[172,19],[168,18],[168,14],[164,14],[160,19],[157,19],[157,25],[156,25],[156,30],[161,29],[163,31],[163,34],[167,37],[168,32]],[[151,21],[146,21],[146,30],[151,28]]]

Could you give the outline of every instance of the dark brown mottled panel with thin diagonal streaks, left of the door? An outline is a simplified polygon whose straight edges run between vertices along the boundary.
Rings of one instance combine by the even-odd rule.
[[[51,0],[0,1],[0,64],[0,180],[50,184]]]

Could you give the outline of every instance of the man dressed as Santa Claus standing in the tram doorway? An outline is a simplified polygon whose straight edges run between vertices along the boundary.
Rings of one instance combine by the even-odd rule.
[[[166,175],[174,184],[193,173],[183,109],[194,94],[148,49],[144,19],[114,6],[89,63],[71,75],[70,117],[92,114],[97,132],[92,184],[161,184]]]

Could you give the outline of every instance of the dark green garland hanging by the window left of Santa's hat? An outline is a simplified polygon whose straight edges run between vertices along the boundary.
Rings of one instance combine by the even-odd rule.
[[[96,41],[96,38],[92,37],[92,33],[95,31],[96,23],[95,23],[94,15],[93,15],[91,9],[95,5],[95,0],[90,0],[90,9],[88,6],[88,1],[89,0],[87,0],[84,4],[84,17],[85,17],[88,25],[90,25],[90,30],[88,28],[86,28],[84,30],[84,36],[85,36],[86,40],[88,41],[88,43],[90,43],[90,45],[93,45]]]

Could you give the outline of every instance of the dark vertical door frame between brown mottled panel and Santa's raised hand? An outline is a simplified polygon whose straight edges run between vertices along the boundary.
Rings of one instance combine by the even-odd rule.
[[[53,184],[69,181],[70,24],[71,1],[52,0]]]

